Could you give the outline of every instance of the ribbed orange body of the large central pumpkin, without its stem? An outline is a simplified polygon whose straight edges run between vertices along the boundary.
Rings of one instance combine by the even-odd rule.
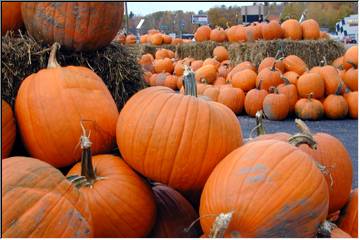
[[[153,87],[125,104],[117,123],[124,160],[178,190],[200,190],[216,164],[242,145],[234,113],[222,104]]]

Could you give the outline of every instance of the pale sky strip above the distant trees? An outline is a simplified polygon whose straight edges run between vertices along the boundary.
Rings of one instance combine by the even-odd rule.
[[[128,12],[132,11],[135,15],[147,15],[157,11],[176,11],[184,12],[199,10],[207,11],[214,6],[246,6],[252,5],[252,2],[128,2]]]

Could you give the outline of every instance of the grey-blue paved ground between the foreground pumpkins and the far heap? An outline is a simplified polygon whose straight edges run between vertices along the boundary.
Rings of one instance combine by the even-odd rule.
[[[248,138],[251,129],[256,125],[255,118],[248,116],[238,116],[244,138]],[[325,132],[331,134],[342,141],[349,151],[353,163],[353,188],[358,187],[358,121],[357,120],[321,120],[306,121],[313,133]],[[296,133],[294,119],[285,121],[264,120],[265,129],[268,133],[288,132]]]

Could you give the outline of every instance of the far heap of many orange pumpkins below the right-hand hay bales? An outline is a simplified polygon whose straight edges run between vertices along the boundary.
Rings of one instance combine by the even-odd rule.
[[[290,55],[267,57],[258,68],[251,62],[232,66],[225,47],[217,46],[213,58],[177,60],[175,53],[159,49],[141,56],[139,63],[150,86],[166,86],[183,92],[186,66],[195,71],[197,94],[228,106],[235,114],[254,117],[264,110],[271,120],[293,113],[305,120],[358,116],[357,46],[349,48],[332,65],[308,69],[304,61]]]

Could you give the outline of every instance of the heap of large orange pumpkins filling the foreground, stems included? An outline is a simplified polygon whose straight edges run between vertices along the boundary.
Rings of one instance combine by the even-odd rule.
[[[228,107],[197,97],[189,68],[184,94],[149,87],[119,114],[93,71],[57,63],[58,47],[15,99],[31,157],[6,158],[15,120],[3,103],[3,237],[194,237],[197,208],[205,237],[314,237],[319,227],[357,237],[352,162],[337,138],[299,121],[299,134],[259,131],[245,143]]]

